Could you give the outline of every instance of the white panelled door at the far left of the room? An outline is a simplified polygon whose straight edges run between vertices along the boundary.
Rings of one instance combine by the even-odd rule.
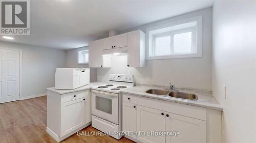
[[[0,49],[0,103],[19,100],[19,51]]]

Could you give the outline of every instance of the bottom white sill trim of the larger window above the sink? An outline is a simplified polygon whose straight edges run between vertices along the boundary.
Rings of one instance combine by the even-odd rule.
[[[146,60],[183,59],[183,58],[202,58],[202,54],[176,54],[176,55],[163,55],[163,56],[148,56]]]

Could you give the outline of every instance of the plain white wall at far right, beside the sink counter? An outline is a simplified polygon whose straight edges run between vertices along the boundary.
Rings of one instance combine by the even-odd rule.
[[[224,108],[224,143],[256,142],[255,8],[256,1],[214,3],[212,88]]]

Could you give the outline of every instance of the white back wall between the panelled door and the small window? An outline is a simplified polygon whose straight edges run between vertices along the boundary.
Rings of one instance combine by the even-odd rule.
[[[20,98],[46,94],[54,87],[55,68],[65,68],[65,50],[0,41],[0,48],[23,50],[23,87]]]

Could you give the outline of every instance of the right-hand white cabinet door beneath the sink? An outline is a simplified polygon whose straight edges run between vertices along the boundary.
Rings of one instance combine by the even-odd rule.
[[[206,122],[167,113],[166,132],[178,131],[179,136],[166,136],[166,143],[206,143]]]

